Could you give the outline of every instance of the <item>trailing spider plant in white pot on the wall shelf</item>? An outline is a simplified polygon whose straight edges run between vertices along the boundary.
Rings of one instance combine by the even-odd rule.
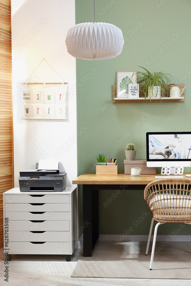
[[[149,72],[144,67],[143,72],[137,72],[140,75],[138,84],[142,84],[140,87],[140,91],[143,92],[145,96],[145,100],[148,97],[151,101],[152,98],[161,98],[164,94],[164,90],[166,95],[169,96],[169,90],[167,89],[167,85],[170,84],[170,79],[167,75],[163,74],[163,72]]]

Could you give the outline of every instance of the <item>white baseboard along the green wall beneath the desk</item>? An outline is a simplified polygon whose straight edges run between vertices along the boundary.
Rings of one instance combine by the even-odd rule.
[[[102,241],[147,241],[148,235],[99,235],[99,240]],[[157,235],[156,241],[191,241],[191,235]],[[153,241],[153,235],[151,235]]]

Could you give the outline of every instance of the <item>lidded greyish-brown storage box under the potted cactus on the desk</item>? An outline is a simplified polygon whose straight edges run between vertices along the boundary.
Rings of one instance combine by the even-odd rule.
[[[125,175],[131,174],[131,168],[137,167],[141,169],[141,174],[156,174],[156,167],[147,167],[147,160],[124,160]]]

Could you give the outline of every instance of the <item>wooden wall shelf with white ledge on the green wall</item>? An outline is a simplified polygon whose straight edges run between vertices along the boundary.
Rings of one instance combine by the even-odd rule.
[[[140,89],[141,89],[141,86],[140,85]],[[183,88],[184,88],[184,84],[175,84],[175,86],[178,86],[180,88],[180,93],[182,92]],[[169,88],[169,85],[168,85],[168,88]],[[147,98],[147,100],[145,100],[145,96],[143,95],[143,93],[140,91],[139,92],[139,98],[126,98],[124,100],[115,100],[115,98],[117,98],[117,86],[116,85],[113,85],[113,103],[125,103],[125,102],[128,102],[128,103],[132,103],[132,102],[150,102],[150,99]],[[166,93],[164,91],[164,95],[162,98],[160,99],[151,99],[151,102],[184,102],[184,91],[181,95],[181,97],[177,97],[177,98],[170,98],[169,96],[167,97],[166,96]]]

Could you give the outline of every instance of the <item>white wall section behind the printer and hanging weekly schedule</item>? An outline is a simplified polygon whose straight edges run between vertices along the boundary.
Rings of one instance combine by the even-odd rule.
[[[68,54],[65,38],[75,25],[75,0],[12,0],[11,9],[15,186],[19,170],[35,168],[39,159],[55,158],[71,186],[77,176],[76,60]],[[21,83],[43,58],[69,83],[66,120],[21,119]],[[43,62],[28,82],[60,79]]]

